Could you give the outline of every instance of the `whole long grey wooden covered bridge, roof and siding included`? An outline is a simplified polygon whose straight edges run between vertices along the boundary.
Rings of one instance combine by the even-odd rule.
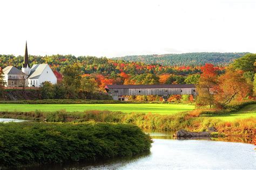
[[[115,85],[107,84],[105,90],[118,100],[122,96],[160,95],[167,98],[169,95],[196,95],[194,84],[152,84],[152,85]]]

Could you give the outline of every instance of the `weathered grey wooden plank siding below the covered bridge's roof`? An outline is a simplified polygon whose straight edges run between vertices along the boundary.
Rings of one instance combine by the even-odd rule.
[[[132,89],[109,89],[113,96],[135,95],[194,95],[196,88],[132,88]],[[167,90],[167,92],[165,92]],[[182,91],[181,91],[182,90]],[[116,92],[118,91],[118,93]],[[139,93],[140,91],[140,93]]]

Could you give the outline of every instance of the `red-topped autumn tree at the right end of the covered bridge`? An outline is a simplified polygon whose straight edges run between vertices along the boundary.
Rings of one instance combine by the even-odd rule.
[[[212,107],[214,103],[214,88],[217,86],[217,71],[212,64],[206,63],[201,67],[202,74],[199,78],[199,83],[196,86],[198,97],[197,102],[199,105],[210,105]]]

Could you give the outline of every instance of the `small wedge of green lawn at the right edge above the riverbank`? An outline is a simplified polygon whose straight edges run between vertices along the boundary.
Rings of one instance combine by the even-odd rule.
[[[232,112],[231,114],[213,116],[214,118],[219,118],[223,121],[234,121],[235,119],[245,119],[254,117],[256,118],[256,104],[250,104],[242,108],[238,112]]]

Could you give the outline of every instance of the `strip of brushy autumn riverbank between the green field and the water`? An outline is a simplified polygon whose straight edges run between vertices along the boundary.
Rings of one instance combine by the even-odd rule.
[[[84,111],[84,112],[0,112],[1,118],[19,118],[39,122],[104,122],[124,123],[137,125],[141,129],[177,131],[186,129],[188,131],[207,131],[215,127],[221,136],[244,137],[252,141],[256,118],[234,119],[232,122],[224,121],[215,117],[194,117],[190,113],[179,113],[171,115],[142,114],[113,111]]]

